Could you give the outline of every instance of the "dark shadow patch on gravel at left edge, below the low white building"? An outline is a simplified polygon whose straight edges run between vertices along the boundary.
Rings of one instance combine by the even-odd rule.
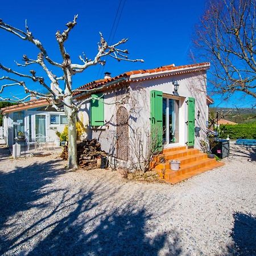
[[[23,212],[28,209],[47,207],[47,203],[36,201],[56,192],[56,189],[47,192],[41,189],[52,183],[56,176],[64,173],[57,168],[58,162],[59,160],[52,160],[43,164],[34,163],[27,167],[16,167],[9,172],[1,170],[0,165],[0,255],[14,242],[1,236],[2,228],[7,227],[5,222],[11,220],[15,214],[21,218]],[[15,225],[11,224],[13,228]]]

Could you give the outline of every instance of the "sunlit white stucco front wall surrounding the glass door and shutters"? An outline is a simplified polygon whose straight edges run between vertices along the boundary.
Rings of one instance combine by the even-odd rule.
[[[180,109],[179,109],[179,143],[184,145],[187,142],[187,101],[188,97],[195,98],[195,126],[200,127],[199,133],[195,136],[195,147],[200,149],[200,140],[205,139],[206,123],[208,121],[208,106],[206,102],[206,73],[188,73],[185,75],[176,75],[163,77],[159,79],[152,79],[146,81],[138,81],[131,83],[131,93],[134,97],[139,96],[137,106],[140,109],[138,113],[137,123],[135,126],[145,126],[150,129],[150,92],[151,90],[160,90],[164,94],[174,94],[174,86],[172,80],[179,83],[178,94],[180,96]],[[143,89],[142,89],[143,88]],[[198,112],[199,116],[197,117]],[[133,123],[133,122],[132,122]],[[177,144],[170,144],[169,146],[177,146]]]

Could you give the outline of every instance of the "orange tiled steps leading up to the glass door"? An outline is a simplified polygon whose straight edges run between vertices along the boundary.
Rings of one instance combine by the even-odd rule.
[[[164,163],[159,163],[164,158]],[[180,160],[179,171],[170,169],[170,160]],[[208,158],[207,154],[200,152],[196,148],[172,147],[163,150],[163,154],[158,156],[157,164],[154,167],[160,179],[176,184],[189,179],[195,175],[223,166],[224,163]]]

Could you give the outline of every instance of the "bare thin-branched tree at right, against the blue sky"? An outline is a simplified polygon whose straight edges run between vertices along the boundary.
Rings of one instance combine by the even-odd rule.
[[[195,61],[210,61],[209,82],[226,98],[256,98],[255,1],[210,0],[196,27]]]

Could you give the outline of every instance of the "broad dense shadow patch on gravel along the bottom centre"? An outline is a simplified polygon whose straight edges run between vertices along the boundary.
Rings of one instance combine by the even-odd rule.
[[[100,223],[88,225],[90,220],[76,223],[80,209],[59,221],[52,232],[28,255],[159,255],[167,242],[167,234],[146,237],[144,210],[123,210],[99,218]],[[93,221],[94,223],[97,221]],[[96,223],[95,223],[96,224]],[[84,230],[86,228],[87,232]],[[91,231],[89,231],[91,230]],[[174,235],[174,234],[173,234]],[[167,254],[179,255],[179,241],[174,238]]]

